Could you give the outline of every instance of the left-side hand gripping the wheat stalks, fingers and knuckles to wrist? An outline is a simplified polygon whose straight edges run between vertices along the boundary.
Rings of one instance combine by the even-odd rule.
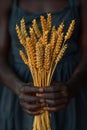
[[[31,115],[41,114],[44,103],[40,102],[40,98],[36,96],[41,93],[41,89],[31,86],[31,84],[23,84],[19,90],[19,100],[22,109]]]

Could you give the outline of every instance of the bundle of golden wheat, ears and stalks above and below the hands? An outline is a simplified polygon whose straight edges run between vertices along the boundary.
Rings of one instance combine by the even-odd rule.
[[[63,33],[64,23],[62,22],[56,29],[55,26],[52,26],[50,13],[47,14],[47,19],[44,16],[40,16],[40,21],[42,33],[36,19],[32,21],[32,27],[29,28],[29,36],[24,19],[20,21],[20,26],[16,25],[16,32],[20,43],[26,50],[27,56],[22,50],[20,50],[20,55],[31,71],[34,85],[49,87],[56,66],[68,47],[66,41],[72,35],[75,20],[72,20],[65,36]],[[50,117],[48,111],[35,116],[33,130],[51,130]]]

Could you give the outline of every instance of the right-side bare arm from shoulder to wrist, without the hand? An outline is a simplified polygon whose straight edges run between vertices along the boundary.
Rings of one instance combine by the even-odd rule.
[[[82,58],[79,66],[75,70],[67,84],[72,89],[74,86],[77,91],[86,86],[87,83],[87,5],[86,0],[81,0],[81,51]],[[72,93],[73,94],[73,93]]]

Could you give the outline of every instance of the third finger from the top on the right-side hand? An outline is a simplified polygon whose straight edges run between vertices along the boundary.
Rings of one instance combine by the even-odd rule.
[[[49,107],[55,107],[58,105],[63,105],[68,103],[67,98],[59,99],[59,100],[45,100],[45,103],[48,104]]]

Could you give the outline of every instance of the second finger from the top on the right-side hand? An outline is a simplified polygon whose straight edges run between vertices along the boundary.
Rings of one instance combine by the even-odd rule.
[[[64,98],[67,97],[67,95],[61,94],[61,93],[42,93],[38,94],[39,98],[44,98],[44,99],[59,99],[59,98]]]

